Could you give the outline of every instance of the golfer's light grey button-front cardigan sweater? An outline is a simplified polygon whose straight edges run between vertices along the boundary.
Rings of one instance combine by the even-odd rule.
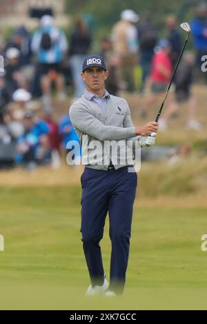
[[[84,165],[107,170],[110,160],[115,169],[133,164],[132,145],[140,136],[136,136],[125,99],[108,96],[103,111],[82,96],[71,105],[69,114],[81,141]]]

